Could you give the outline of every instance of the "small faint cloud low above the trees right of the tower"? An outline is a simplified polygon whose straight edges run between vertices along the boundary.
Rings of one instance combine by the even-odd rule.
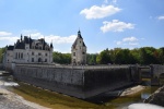
[[[122,38],[121,40],[115,41],[116,45],[129,45],[129,46],[138,46],[139,45],[139,39],[131,36],[131,37],[126,37]]]

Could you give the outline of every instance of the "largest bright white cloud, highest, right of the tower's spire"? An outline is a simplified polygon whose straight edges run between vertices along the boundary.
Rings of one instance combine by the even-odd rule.
[[[113,15],[117,12],[119,12],[121,9],[116,8],[114,5],[93,5],[90,9],[84,9],[80,12],[80,14],[85,15],[87,20],[91,19],[103,19],[109,15]]]

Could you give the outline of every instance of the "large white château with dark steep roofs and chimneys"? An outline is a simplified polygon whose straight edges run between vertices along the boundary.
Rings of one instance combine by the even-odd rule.
[[[14,63],[51,63],[52,44],[48,45],[44,38],[32,39],[28,36],[17,39],[14,46],[7,46],[3,55],[3,66],[11,69]]]

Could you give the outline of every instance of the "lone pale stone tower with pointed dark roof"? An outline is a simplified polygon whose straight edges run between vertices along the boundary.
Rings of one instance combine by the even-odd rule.
[[[74,65],[86,64],[86,46],[80,31],[78,32],[78,37],[71,48],[71,58],[72,64]]]

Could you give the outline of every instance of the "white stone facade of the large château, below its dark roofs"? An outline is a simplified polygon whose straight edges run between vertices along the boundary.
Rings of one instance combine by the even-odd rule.
[[[34,41],[35,44],[35,41]],[[12,62],[14,63],[52,63],[52,48],[48,45],[46,50],[42,48],[36,49],[35,46],[32,49],[30,44],[25,44],[25,49],[13,49],[7,50],[3,59],[4,68],[12,68]]]

